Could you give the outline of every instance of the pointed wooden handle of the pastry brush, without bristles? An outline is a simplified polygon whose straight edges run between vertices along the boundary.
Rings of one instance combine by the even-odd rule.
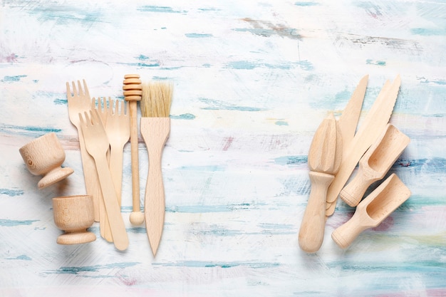
[[[141,135],[149,154],[144,213],[147,236],[155,256],[160,244],[165,217],[165,192],[161,158],[170,132],[170,118],[141,118]]]

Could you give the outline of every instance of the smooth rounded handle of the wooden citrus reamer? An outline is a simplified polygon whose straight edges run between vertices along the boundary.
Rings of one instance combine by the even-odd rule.
[[[311,192],[299,230],[299,246],[307,253],[314,253],[322,245],[326,219],[326,194],[334,176],[313,171],[309,175]]]

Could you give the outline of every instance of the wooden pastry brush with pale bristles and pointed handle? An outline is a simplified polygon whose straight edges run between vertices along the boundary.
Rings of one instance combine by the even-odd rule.
[[[165,192],[162,182],[162,150],[170,133],[170,104],[173,85],[163,82],[142,85],[141,135],[149,154],[144,213],[147,236],[153,256],[160,245],[165,217]]]

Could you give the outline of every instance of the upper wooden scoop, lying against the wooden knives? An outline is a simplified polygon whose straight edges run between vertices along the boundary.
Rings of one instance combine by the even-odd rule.
[[[370,184],[384,177],[409,142],[410,138],[394,125],[386,125],[378,140],[359,161],[358,173],[341,191],[341,199],[351,207],[356,207],[365,190]]]

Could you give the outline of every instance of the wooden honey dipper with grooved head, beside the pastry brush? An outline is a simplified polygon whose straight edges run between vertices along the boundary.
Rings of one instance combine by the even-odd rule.
[[[140,75],[124,75],[124,99],[130,107],[130,152],[132,162],[132,197],[133,212],[130,214],[130,222],[140,225],[144,222],[144,215],[140,211],[140,171],[138,157],[138,101],[142,96]]]

